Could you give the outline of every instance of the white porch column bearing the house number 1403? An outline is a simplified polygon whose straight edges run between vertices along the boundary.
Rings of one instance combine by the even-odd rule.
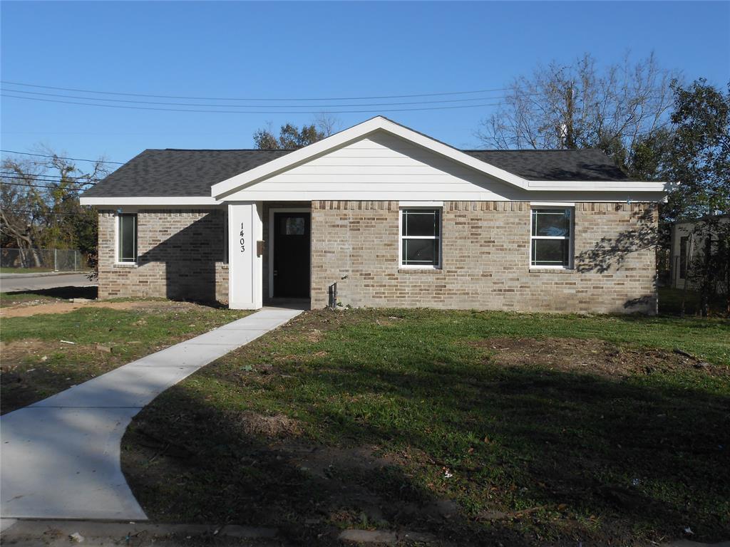
[[[263,306],[263,257],[256,241],[264,239],[260,201],[228,203],[228,307],[260,309]]]

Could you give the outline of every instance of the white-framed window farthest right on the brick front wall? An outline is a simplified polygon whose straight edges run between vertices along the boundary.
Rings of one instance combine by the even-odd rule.
[[[572,209],[532,209],[530,265],[572,267]]]

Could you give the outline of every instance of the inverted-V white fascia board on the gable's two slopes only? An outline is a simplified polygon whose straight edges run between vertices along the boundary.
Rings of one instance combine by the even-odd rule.
[[[477,158],[461,152],[461,150],[456,150],[456,148],[431,139],[431,137],[417,133],[416,131],[397,123],[393,123],[391,120],[387,120],[384,117],[377,116],[363,123],[359,123],[358,125],[354,125],[349,129],[345,129],[345,131],[340,131],[332,136],[328,136],[326,139],[317,141],[307,147],[290,152],[281,158],[264,163],[262,166],[255,167],[249,171],[245,171],[244,173],[231,176],[230,179],[218,182],[218,184],[211,187],[211,195],[214,198],[223,198],[226,194],[239,190],[245,185],[249,185],[250,183],[256,182],[267,176],[273,176],[274,174],[285,171],[288,168],[299,165],[299,163],[304,163],[307,160],[315,158],[318,155],[324,154],[338,147],[345,146],[345,144],[349,144],[352,141],[361,139],[375,131],[386,131],[388,133],[392,133],[393,135],[401,137],[401,139],[406,139],[414,144],[418,144],[420,147],[436,152],[446,158],[455,160],[456,162],[469,166],[476,171],[491,175],[511,185],[527,189],[528,182],[521,176],[504,171],[504,169],[496,168],[489,163],[477,160]]]

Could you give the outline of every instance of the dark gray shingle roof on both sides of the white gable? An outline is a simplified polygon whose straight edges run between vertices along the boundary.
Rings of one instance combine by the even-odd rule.
[[[87,198],[210,197],[210,187],[291,150],[145,150],[95,187]],[[627,180],[600,150],[464,150],[528,180]]]

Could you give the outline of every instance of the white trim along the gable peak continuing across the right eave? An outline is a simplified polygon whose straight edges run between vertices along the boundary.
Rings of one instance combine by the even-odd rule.
[[[215,198],[216,200],[224,199],[227,195],[230,195],[237,190],[241,190],[243,187],[253,185],[262,179],[282,173],[283,171],[301,165],[302,163],[306,163],[307,160],[316,158],[318,155],[326,154],[331,150],[344,147],[353,141],[363,139],[375,131],[385,131],[395,136],[399,136],[401,139],[417,144],[426,150],[431,150],[431,152],[435,152],[445,158],[450,158],[457,163],[461,163],[475,171],[492,176],[502,182],[506,182],[509,185],[521,188],[522,190],[588,192],[625,192],[626,190],[634,192],[665,191],[664,182],[529,181],[527,179],[523,179],[521,176],[504,171],[504,169],[497,168],[489,163],[483,162],[482,160],[478,160],[465,152],[461,152],[461,150],[456,150],[456,148],[450,147],[447,144],[431,139],[429,136],[413,131],[403,125],[394,123],[385,117],[377,116],[358,125],[354,125],[349,129],[345,129],[345,131],[340,131],[332,136],[328,136],[326,139],[310,144],[307,147],[295,150],[281,158],[272,160],[269,163],[264,163],[262,166],[258,166],[250,169],[249,171],[245,171],[244,173],[232,176],[230,179],[218,182],[218,184],[213,185],[211,188],[212,198]]]

